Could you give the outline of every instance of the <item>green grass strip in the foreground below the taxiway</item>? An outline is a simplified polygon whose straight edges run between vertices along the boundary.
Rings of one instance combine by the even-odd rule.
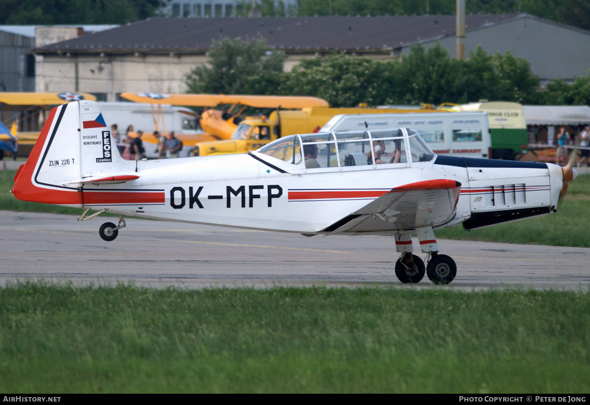
[[[590,293],[0,289],[11,393],[588,393]]]

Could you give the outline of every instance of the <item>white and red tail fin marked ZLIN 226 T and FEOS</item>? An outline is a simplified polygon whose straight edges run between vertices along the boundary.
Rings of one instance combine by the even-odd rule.
[[[96,102],[83,100],[55,107],[37,143],[15,176],[19,200],[83,205],[84,178],[133,171],[124,161]],[[126,169],[126,170],[125,170]]]

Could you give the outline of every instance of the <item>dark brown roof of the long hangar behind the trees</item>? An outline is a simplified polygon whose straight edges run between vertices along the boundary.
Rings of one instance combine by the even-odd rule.
[[[523,17],[467,15],[466,30]],[[530,16],[528,16],[530,17]],[[455,35],[454,15],[392,17],[150,18],[35,49],[48,53],[201,53],[222,37],[255,40],[289,53],[388,51]]]

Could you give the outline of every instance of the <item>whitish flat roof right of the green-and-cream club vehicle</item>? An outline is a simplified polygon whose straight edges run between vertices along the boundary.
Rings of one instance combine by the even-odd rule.
[[[523,106],[526,125],[590,124],[588,106]]]

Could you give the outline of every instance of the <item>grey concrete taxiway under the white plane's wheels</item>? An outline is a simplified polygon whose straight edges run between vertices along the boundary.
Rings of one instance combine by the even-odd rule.
[[[111,242],[98,229],[115,217],[0,211],[0,285],[28,279],[76,285],[186,288],[393,286],[396,288],[535,288],[586,290],[590,249],[439,240],[457,262],[457,277],[435,286],[395,277],[388,236],[314,236],[236,230],[126,218]],[[414,249],[418,249],[414,242]],[[419,253],[424,259],[424,254]]]

